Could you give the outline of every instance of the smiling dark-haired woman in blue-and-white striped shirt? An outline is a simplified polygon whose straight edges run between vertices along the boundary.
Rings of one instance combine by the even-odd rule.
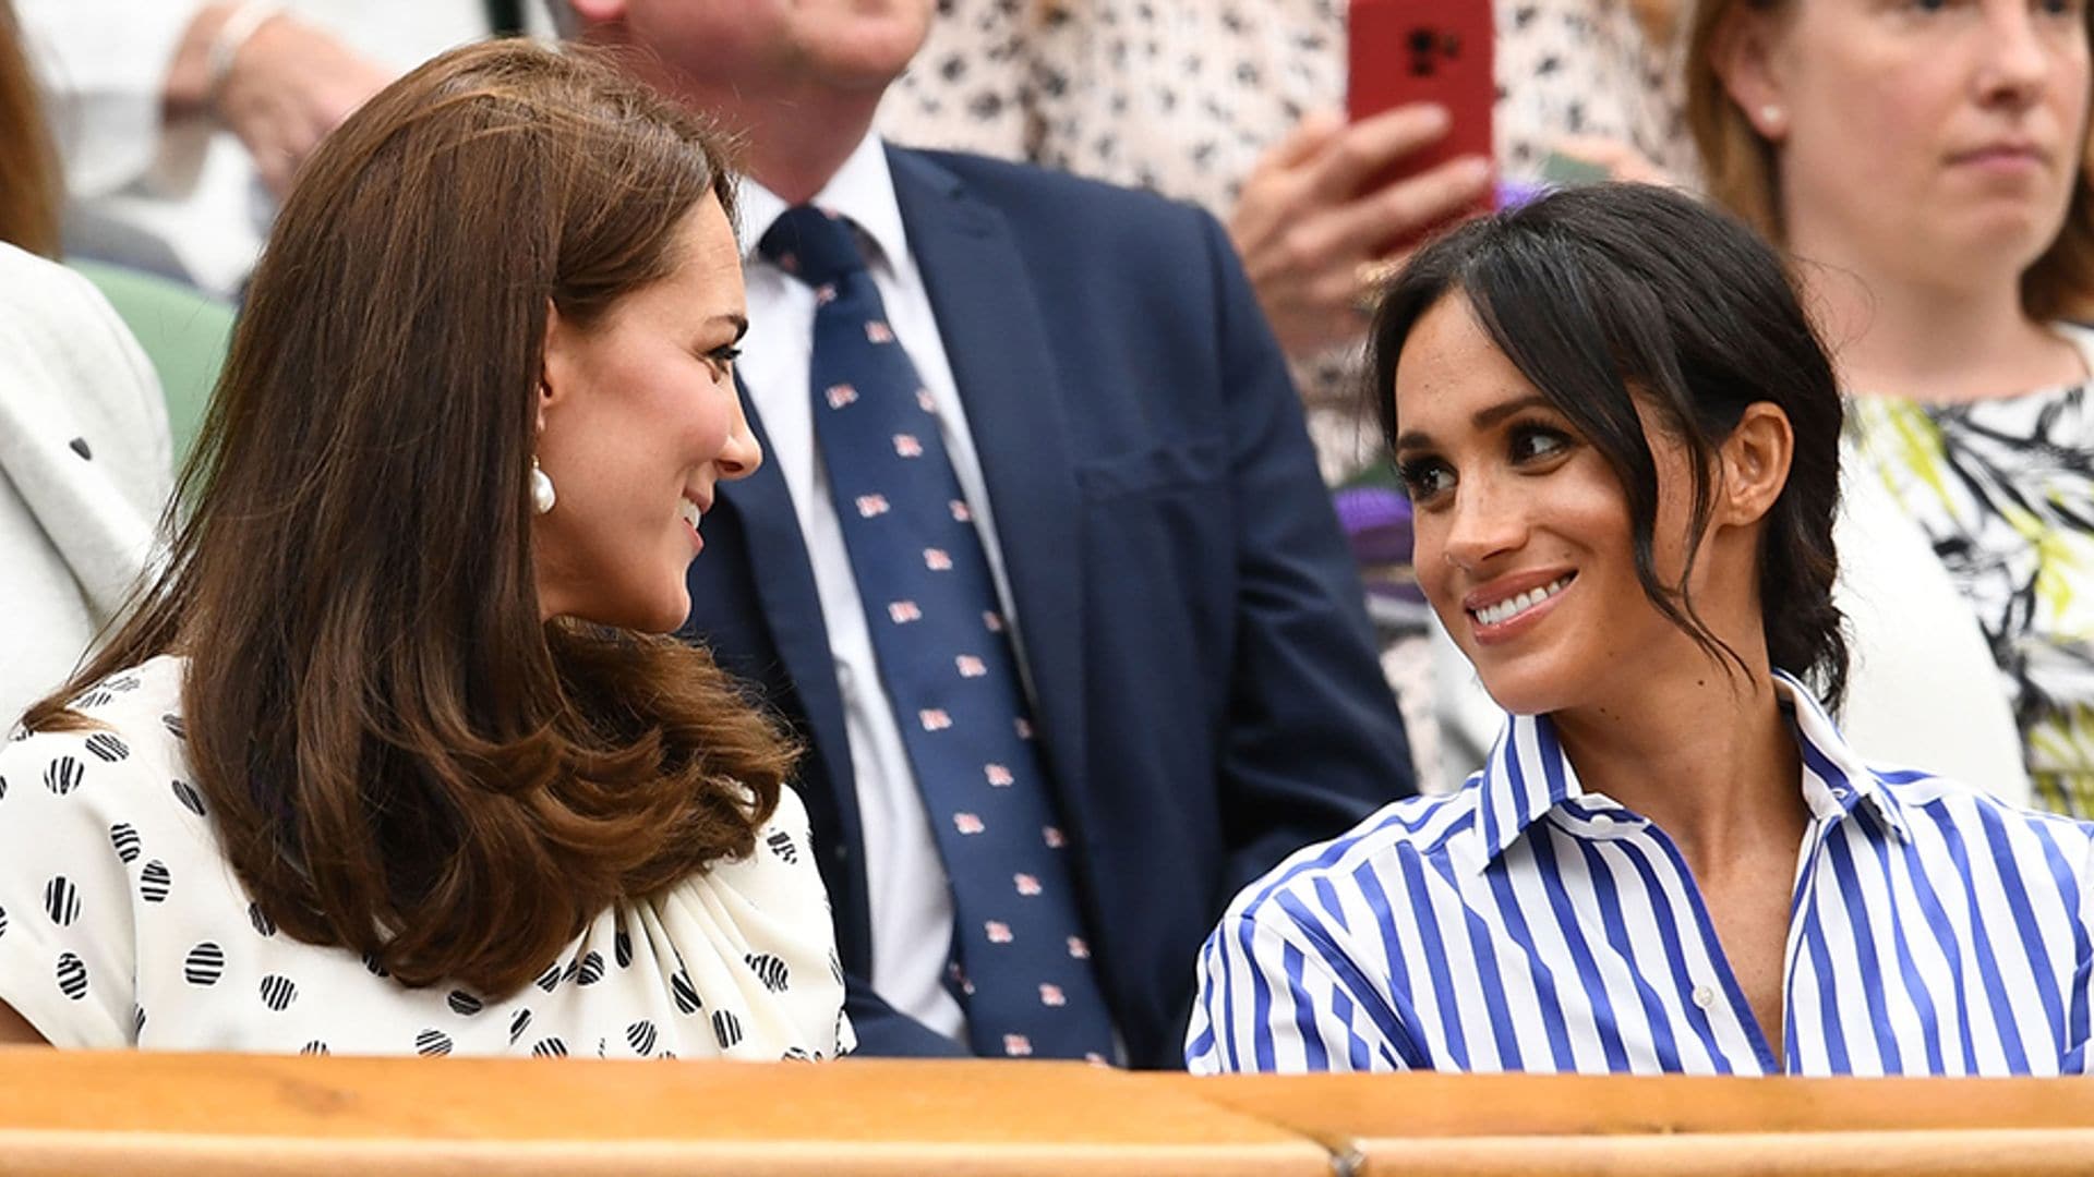
[[[1374,325],[1428,601],[1512,712],[1244,890],[1194,1070],[2081,1070],[2094,827],[1864,764],[1841,400],[1782,264],[1665,188],[1426,247]]]

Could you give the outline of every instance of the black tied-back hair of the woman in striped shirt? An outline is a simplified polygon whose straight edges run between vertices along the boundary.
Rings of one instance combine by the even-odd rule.
[[[1759,536],[1759,620],[1769,662],[1839,706],[1847,689],[1847,639],[1832,603],[1839,381],[1765,239],[1671,188],[1596,184],[1426,245],[1382,293],[1367,335],[1369,392],[1390,448],[1403,341],[1453,293],[1621,480],[1644,597],[1740,670],[1748,668],[1702,624],[1686,586],[1717,503],[1719,446],[1751,404],[1788,417],[1788,480]],[[1658,496],[1679,490],[1658,486],[1638,402],[1690,457],[1677,584],[1658,580],[1652,551]]]

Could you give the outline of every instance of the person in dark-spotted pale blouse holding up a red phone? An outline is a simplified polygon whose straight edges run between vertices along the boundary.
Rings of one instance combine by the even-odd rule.
[[[1344,0],[944,0],[879,109],[896,142],[1028,159],[1194,201],[1229,226],[1298,362],[1328,478],[1374,459],[1355,415],[1363,266],[1570,136],[1690,155],[1667,92],[1671,0],[1464,0],[1497,27],[1495,159],[1369,180],[1445,134],[1407,107],[1349,124]],[[1573,145],[1575,147],[1575,145]]]

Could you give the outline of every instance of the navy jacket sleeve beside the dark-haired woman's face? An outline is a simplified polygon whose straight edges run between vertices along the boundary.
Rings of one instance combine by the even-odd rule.
[[[1206,224],[1238,565],[1219,909],[1286,854],[1418,790],[1359,568],[1317,475],[1286,356],[1219,226]]]

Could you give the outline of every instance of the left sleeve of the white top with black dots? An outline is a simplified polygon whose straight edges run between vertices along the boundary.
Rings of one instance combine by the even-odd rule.
[[[109,743],[115,739],[117,743]],[[149,884],[111,800],[142,796],[109,731],[0,743],[0,1001],[50,1045],[134,1041],[134,896]],[[140,878],[134,880],[132,875]]]

